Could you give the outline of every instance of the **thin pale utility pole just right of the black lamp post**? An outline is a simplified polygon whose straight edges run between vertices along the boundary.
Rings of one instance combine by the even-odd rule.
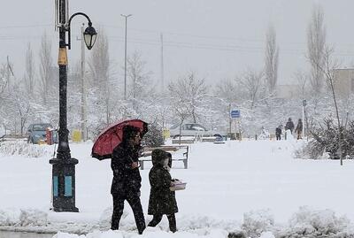
[[[87,126],[87,102],[86,102],[86,84],[85,84],[85,42],[83,39],[84,26],[81,26],[81,135],[82,140],[88,140],[88,126]]]

